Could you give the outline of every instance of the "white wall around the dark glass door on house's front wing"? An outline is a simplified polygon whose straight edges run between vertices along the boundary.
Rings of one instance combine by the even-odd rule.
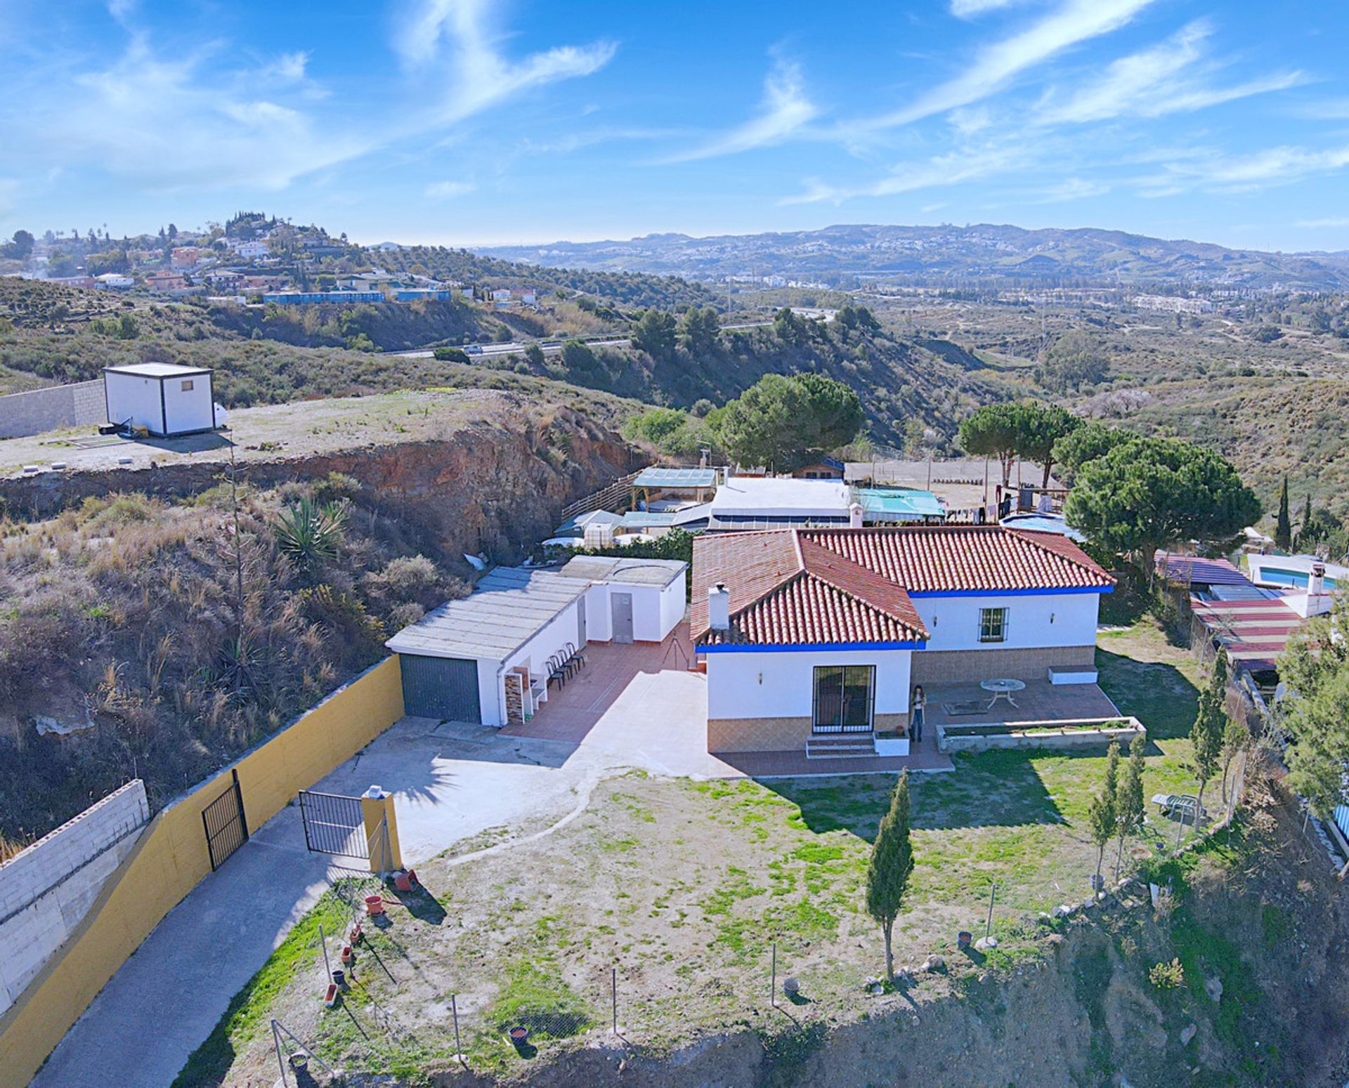
[[[815,666],[874,665],[876,713],[909,709],[911,650],[793,650],[707,654],[707,716],[809,717]]]

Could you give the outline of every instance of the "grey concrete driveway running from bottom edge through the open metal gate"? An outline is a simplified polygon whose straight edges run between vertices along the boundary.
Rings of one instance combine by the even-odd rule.
[[[482,830],[542,826],[573,812],[621,758],[500,736],[482,725],[403,719],[316,789],[395,797],[407,864]],[[174,907],[66,1033],[36,1088],[166,1088],[329,880],[351,870],[305,849],[283,809]],[[347,864],[359,866],[360,862]],[[225,950],[228,949],[228,953]]]

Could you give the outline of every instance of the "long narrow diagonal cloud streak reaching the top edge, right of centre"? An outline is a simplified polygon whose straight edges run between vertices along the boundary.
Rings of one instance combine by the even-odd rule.
[[[917,101],[880,117],[854,124],[861,131],[894,128],[971,105],[1002,89],[1021,71],[1059,53],[1118,30],[1155,0],[1066,0],[1035,26],[994,42],[965,63],[963,74],[939,84]]]

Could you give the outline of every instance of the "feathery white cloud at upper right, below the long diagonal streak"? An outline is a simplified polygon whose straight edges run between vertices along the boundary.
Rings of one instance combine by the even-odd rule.
[[[1066,101],[1048,97],[1037,120],[1043,124],[1102,121],[1135,115],[1161,117],[1284,90],[1303,82],[1299,71],[1284,71],[1228,86],[1209,84],[1218,65],[1206,59],[1205,42],[1213,34],[1207,20],[1197,20],[1152,49],[1112,62],[1105,73],[1078,88]]]

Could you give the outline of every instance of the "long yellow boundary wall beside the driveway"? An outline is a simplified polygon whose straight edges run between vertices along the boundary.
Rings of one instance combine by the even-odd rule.
[[[402,716],[398,658],[389,657],[159,812],[70,940],[0,1018],[0,1088],[32,1079],[150,930],[210,872],[201,813],[231,785],[231,771],[256,830]]]

